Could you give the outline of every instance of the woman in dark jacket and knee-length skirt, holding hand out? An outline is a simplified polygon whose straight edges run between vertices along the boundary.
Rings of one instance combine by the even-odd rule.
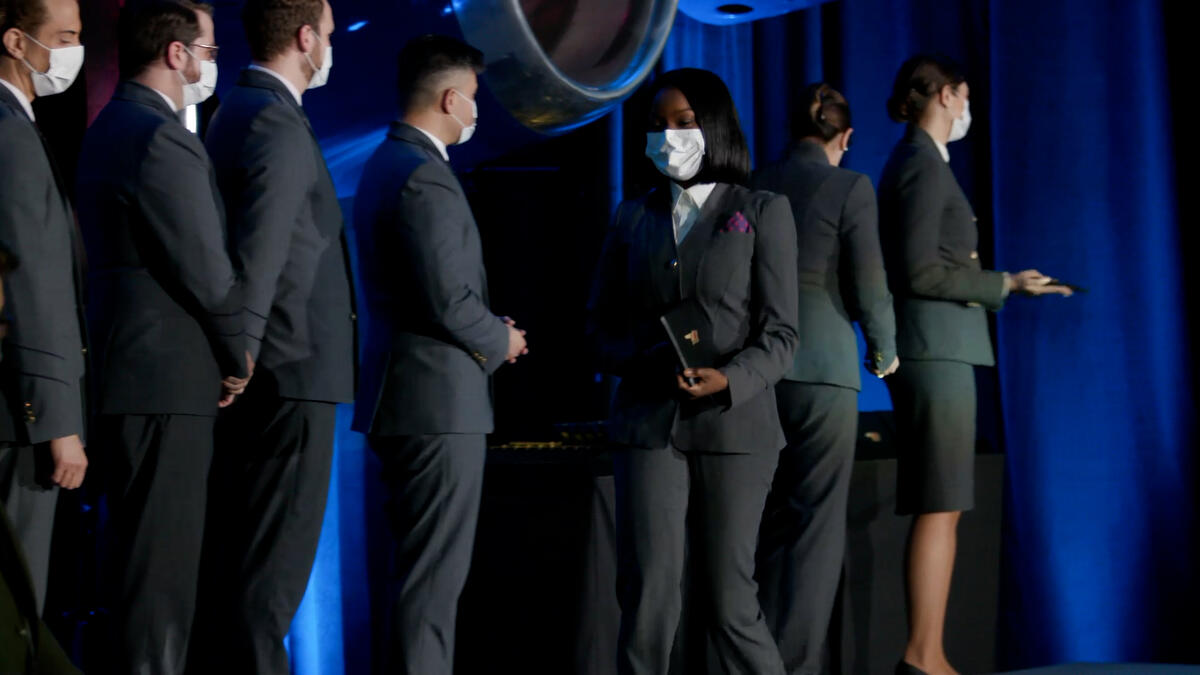
[[[898,675],[953,674],[942,629],[959,516],[974,506],[974,368],[995,365],[986,310],[1010,293],[1070,291],[1037,270],[984,270],[976,217],[947,144],[966,136],[970,88],[958,65],[917,55],[900,66],[888,114],[907,123],[880,180],[880,237],[895,297],[888,378],[902,443],[896,512],[913,514],[906,584],[908,645]]]

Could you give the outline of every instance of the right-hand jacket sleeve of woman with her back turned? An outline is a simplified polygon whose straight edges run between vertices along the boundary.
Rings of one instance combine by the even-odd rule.
[[[841,211],[842,275],[857,307],[854,318],[866,339],[868,359],[883,368],[896,357],[896,319],[880,247],[878,207],[871,180],[859,175]]]

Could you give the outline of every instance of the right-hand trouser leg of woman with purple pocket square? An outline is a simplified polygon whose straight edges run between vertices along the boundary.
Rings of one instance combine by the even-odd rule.
[[[728,675],[780,675],[784,663],[758,605],[755,549],[778,453],[691,454],[694,532],[701,575],[695,587],[710,603],[710,634]]]

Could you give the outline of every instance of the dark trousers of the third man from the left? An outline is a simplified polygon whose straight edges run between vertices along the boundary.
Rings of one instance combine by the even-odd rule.
[[[334,404],[247,393],[218,418],[202,605],[217,603],[198,614],[193,664],[290,671],[283,638],[317,555],[336,417]]]

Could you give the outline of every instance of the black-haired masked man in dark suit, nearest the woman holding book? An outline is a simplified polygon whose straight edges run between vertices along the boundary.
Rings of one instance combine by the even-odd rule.
[[[400,53],[402,121],[354,208],[367,307],[354,429],[383,461],[398,540],[388,673],[449,675],[492,430],[488,376],[526,353],[491,312],[479,231],[445,147],[475,129],[479,50],[442,36]]]

